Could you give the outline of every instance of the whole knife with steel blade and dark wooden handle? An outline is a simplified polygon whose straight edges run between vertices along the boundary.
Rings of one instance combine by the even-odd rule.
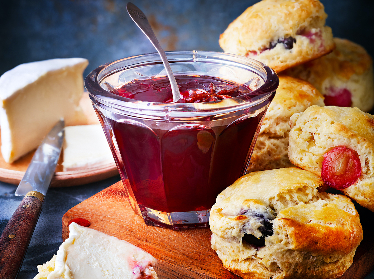
[[[61,153],[64,126],[60,120],[46,135],[16,189],[16,196],[25,197],[0,237],[0,279],[14,279],[21,269]]]

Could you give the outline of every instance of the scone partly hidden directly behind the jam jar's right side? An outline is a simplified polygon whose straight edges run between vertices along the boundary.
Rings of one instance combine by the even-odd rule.
[[[247,172],[293,166],[288,159],[289,118],[311,105],[324,105],[309,82],[279,76],[279,86],[265,114]]]

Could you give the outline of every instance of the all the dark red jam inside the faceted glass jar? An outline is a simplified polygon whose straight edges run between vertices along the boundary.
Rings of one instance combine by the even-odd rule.
[[[250,93],[246,86],[208,76],[176,76],[179,102],[207,102]],[[112,93],[136,100],[170,102],[167,77],[134,80]],[[218,121],[149,124],[134,117],[106,119],[123,178],[142,207],[162,212],[209,210],[217,195],[243,174],[252,140],[266,110]],[[155,122],[155,121],[153,121]],[[157,122],[157,121],[156,121]]]

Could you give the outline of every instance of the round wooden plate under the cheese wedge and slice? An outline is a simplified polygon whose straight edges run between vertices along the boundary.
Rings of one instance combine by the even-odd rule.
[[[99,124],[99,120],[93,110],[88,93],[85,92],[80,101],[80,105],[85,112],[88,123]],[[34,155],[31,151],[14,163],[7,163],[0,153],[0,181],[18,185],[22,180],[25,171]],[[51,181],[51,187],[77,186],[95,181],[104,180],[118,174],[117,166],[113,163],[104,163],[102,165],[92,166],[91,168],[82,168],[76,171],[62,171],[62,156],[56,167],[55,175]]]

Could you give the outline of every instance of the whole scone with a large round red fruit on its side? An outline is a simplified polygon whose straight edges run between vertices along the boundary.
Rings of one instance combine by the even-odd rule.
[[[374,211],[374,117],[358,108],[311,106],[290,124],[290,161]]]

